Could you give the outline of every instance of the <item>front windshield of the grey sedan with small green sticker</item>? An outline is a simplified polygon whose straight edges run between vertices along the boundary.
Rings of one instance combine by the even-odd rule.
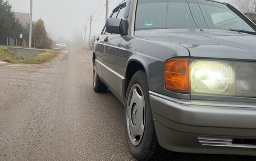
[[[220,29],[254,31],[228,6],[212,1],[138,0],[135,31]]]

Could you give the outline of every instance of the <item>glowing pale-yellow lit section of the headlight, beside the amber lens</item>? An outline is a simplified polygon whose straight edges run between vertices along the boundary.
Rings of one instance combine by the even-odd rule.
[[[235,95],[235,69],[230,62],[192,61],[191,93]]]

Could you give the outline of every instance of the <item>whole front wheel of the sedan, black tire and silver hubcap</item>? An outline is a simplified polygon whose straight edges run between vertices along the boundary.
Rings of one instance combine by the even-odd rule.
[[[170,155],[170,151],[158,144],[148,92],[145,72],[136,72],[126,94],[126,140],[136,159],[164,160]]]

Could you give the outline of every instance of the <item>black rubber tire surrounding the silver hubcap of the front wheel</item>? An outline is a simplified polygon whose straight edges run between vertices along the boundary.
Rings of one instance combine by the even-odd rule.
[[[141,139],[139,145],[136,145],[136,146],[134,145],[134,143],[132,143],[132,141],[130,139],[131,138],[131,135],[129,135],[130,130],[128,130],[128,125],[127,125],[127,122],[129,122],[129,121],[127,121],[127,119],[129,119],[129,117],[127,116],[127,114],[129,113],[127,111],[129,111],[129,110],[127,110],[127,109],[130,108],[128,106],[131,105],[132,98],[133,98],[133,96],[132,96],[132,98],[130,99],[129,95],[131,93],[131,90],[135,89],[134,85],[135,86],[139,85],[142,89],[142,93],[144,96],[143,112],[145,114],[145,116],[143,117],[143,120],[145,120],[144,133],[142,135],[142,139]],[[134,91],[132,93],[134,93]],[[132,105],[132,107],[134,108],[134,105]],[[132,109],[131,109],[131,111],[132,111],[132,114],[134,114],[134,111]],[[136,110],[135,113],[137,113],[137,111],[138,110]],[[135,116],[135,117],[136,117],[136,119],[138,118],[137,116]],[[171,152],[166,149],[163,149],[158,144],[156,130],[154,127],[154,121],[153,121],[153,116],[152,116],[152,110],[151,110],[150,102],[149,102],[148,80],[147,80],[147,76],[145,75],[144,71],[136,72],[130,81],[130,84],[127,89],[126,101],[125,101],[125,118],[126,118],[125,119],[125,127],[126,127],[127,144],[129,146],[129,150],[130,150],[131,154],[136,159],[138,159],[138,160],[166,160],[167,158],[170,157]],[[132,119],[132,117],[131,117],[131,119]],[[129,125],[129,126],[132,126],[132,125]]]

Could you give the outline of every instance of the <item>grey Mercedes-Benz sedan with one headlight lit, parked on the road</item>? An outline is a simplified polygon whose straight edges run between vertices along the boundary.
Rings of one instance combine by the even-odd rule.
[[[214,1],[126,0],[113,10],[94,45],[93,88],[125,105],[135,158],[256,155],[255,31]]]

